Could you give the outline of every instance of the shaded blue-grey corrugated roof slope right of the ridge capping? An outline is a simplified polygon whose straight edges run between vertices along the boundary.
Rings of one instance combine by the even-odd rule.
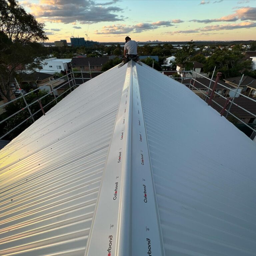
[[[256,144],[179,82],[137,66],[166,255],[256,255]]]

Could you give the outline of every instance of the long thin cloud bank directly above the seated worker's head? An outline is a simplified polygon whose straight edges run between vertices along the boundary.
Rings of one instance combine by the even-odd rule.
[[[138,23],[133,26],[126,26],[125,24],[109,25],[101,28],[101,31],[95,30],[95,34],[128,34],[128,33],[141,33],[147,30],[157,29],[159,27],[174,26],[170,21],[156,21],[152,23]]]

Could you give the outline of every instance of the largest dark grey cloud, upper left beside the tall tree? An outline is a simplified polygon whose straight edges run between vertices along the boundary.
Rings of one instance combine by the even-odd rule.
[[[22,2],[31,9],[40,22],[62,22],[64,24],[79,21],[80,24],[108,21],[122,21],[118,15],[123,9],[116,6],[104,6],[116,0],[99,5],[94,0],[40,0],[39,3]]]

